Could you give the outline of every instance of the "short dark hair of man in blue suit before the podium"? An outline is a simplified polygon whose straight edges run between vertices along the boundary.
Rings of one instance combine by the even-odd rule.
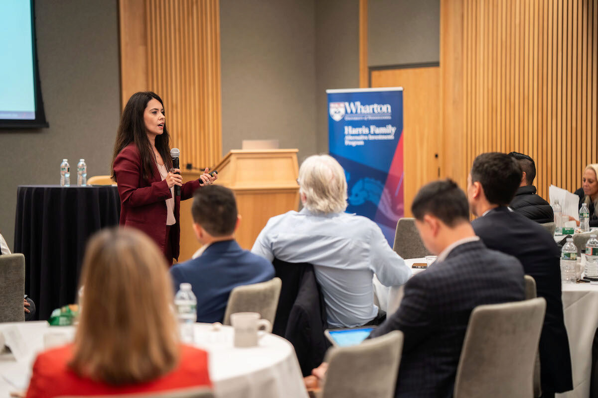
[[[193,221],[210,235],[231,235],[237,223],[237,201],[234,193],[221,185],[210,185],[197,190],[191,206]]]

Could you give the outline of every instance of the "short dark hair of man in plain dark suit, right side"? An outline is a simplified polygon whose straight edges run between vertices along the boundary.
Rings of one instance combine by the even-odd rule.
[[[508,206],[521,183],[521,168],[506,153],[478,155],[471,166],[471,183],[479,181],[486,199],[493,205]]]

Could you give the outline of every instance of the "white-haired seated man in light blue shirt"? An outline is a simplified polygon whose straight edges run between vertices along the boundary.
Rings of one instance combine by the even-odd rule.
[[[270,218],[251,251],[272,261],[310,263],[328,313],[328,326],[361,326],[378,315],[373,275],[385,286],[407,282],[411,270],[380,227],[347,214],[347,181],[331,156],[314,155],[299,169],[303,209]]]

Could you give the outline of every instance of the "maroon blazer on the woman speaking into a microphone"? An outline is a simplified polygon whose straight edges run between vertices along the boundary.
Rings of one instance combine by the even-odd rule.
[[[154,239],[162,252],[166,248],[166,199],[172,198],[166,181],[162,181],[157,166],[152,165],[151,180],[142,175],[141,156],[135,144],[129,144],[114,159],[114,174],[120,195],[120,225],[135,227]],[[181,200],[189,199],[200,187],[199,179],[181,187],[181,196],[175,196],[176,223],[171,227],[172,257],[179,258]]]

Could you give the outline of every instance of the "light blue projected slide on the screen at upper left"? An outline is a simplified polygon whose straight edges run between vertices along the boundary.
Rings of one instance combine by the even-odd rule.
[[[0,0],[0,119],[35,119],[33,32],[29,0]]]

